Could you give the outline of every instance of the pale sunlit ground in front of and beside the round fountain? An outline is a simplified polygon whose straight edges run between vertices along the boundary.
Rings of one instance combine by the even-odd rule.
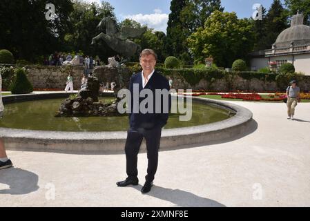
[[[253,111],[254,132],[160,152],[148,195],[115,185],[124,155],[8,151],[15,167],[0,171],[0,206],[310,206],[310,104],[289,121],[283,103],[235,103]],[[140,184],[146,162],[141,153]]]

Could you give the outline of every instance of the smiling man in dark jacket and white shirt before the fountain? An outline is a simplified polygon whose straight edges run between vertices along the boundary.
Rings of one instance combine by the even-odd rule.
[[[126,153],[126,173],[128,177],[122,182],[117,182],[117,186],[137,185],[138,171],[137,171],[137,155],[141,146],[143,138],[146,140],[146,149],[148,157],[148,169],[146,175],[146,182],[142,187],[142,193],[151,191],[155,173],[158,164],[158,150],[160,137],[162,135],[162,127],[167,123],[168,111],[171,109],[171,95],[166,93],[168,99],[155,99],[155,90],[159,89],[168,92],[170,90],[168,80],[166,77],[160,75],[155,70],[157,55],[151,49],[144,49],[140,54],[140,65],[142,72],[133,75],[130,79],[129,90],[131,93],[131,110],[129,115],[130,128],[127,133],[127,140],[125,145]],[[144,89],[149,89],[153,93],[153,111],[142,113],[139,106],[143,99],[140,97],[136,101],[133,97],[134,88],[138,86],[139,94]],[[138,95],[139,96],[139,95]],[[165,96],[163,95],[163,98]],[[135,101],[135,102],[134,102]],[[160,102],[160,103],[159,103]],[[157,104],[158,103],[158,104]],[[155,107],[160,106],[160,111],[155,111]],[[167,110],[164,110],[164,106]]]

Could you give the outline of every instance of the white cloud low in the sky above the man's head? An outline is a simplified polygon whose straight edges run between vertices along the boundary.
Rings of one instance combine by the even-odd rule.
[[[133,19],[139,23],[145,24],[148,28],[154,28],[166,33],[168,14],[162,13],[162,10],[156,8],[153,14],[125,15],[124,19]]]

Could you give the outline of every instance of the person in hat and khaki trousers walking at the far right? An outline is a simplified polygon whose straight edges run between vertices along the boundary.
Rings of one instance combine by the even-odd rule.
[[[291,86],[287,88],[287,119],[294,119],[295,108],[300,99],[300,88],[297,86],[297,81],[291,81]]]

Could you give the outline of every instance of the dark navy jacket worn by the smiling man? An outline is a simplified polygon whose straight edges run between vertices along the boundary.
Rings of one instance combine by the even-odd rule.
[[[133,84],[139,84],[139,93],[141,92],[142,89],[150,89],[153,92],[153,113],[141,113],[139,110],[139,113],[133,113]],[[148,82],[146,86],[143,88],[142,87],[142,73],[137,73],[134,74],[131,79],[130,79],[130,84],[129,84],[129,90],[131,93],[131,112],[129,114],[129,124],[130,128],[154,128],[155,126],[163,127],[166,125],[167,120],[168,120],[168,113],[163,113],[163,104],[164,104],[164,99],[163,96],[161,97],[161,107],[162,110],[160,113],[155,113],[155,106],[156,104],[156,99],[155,99],[155,89],[166,89],[170,90],[169,82],[166,79],[166,77],[160,75],[155,72],[153,73],[152,77],[148,79]],[[145,97],[139,98],[139,105],[140,103],[145,99]],[[139,109],[139,106],[137,106],[137,109]],[[171,95],[168,96],[168,110],[171,110]]]

